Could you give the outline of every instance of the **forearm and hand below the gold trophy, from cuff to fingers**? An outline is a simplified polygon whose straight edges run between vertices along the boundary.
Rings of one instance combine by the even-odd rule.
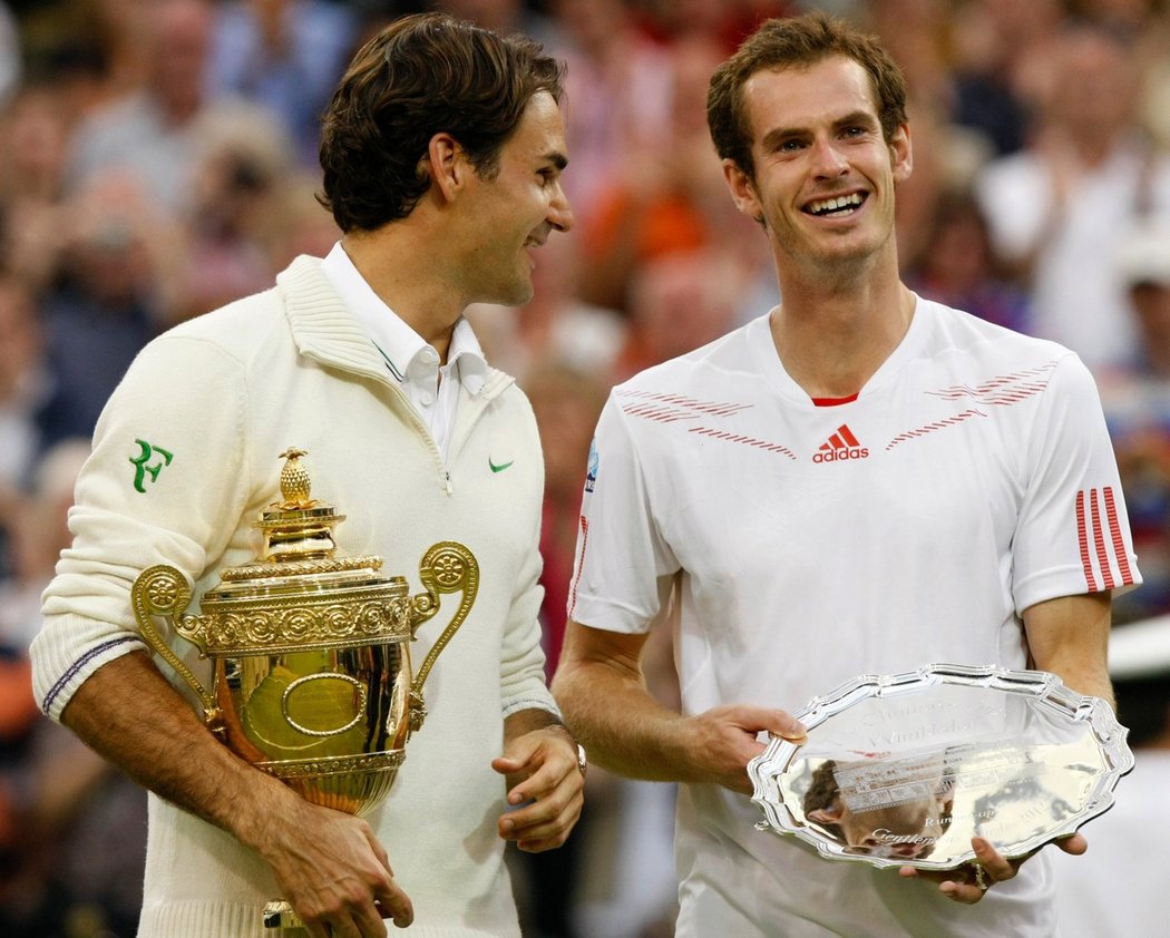
[[[358,922],[373,934],[381,916],[410,924],[410,899],[370,826],[311,805],[236,757],[145,654],[95,671],[62,722],[135,781],[255,849],[311,933],[350,933]]]

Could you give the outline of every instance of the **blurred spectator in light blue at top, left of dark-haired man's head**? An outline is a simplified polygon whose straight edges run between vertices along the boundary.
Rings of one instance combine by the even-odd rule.
[[[264,105],[284,125],[297,161],[316,166],[319,116],[356,48],[357,30],[349,4],[227,0],[212,29],[211,94]]]

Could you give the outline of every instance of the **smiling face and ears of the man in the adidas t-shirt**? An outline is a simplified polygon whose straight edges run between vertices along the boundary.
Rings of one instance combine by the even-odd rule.
[[[885,260],[896,270],[894,187],[910,174],[909,131],[882,136],[873,83],[852,58],[765,69],[743,87],[753,174],[723,168],[737,207],[763,221],[786,273],[841,276]]]

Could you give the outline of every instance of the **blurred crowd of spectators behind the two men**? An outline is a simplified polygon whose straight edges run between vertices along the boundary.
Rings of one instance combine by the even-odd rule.
[[[810,8],[878,34],[907,74],[907,282],[1093,370],[1147,581],[1116,621],[1170,612],[1164,0],[0,2],[0,934],[126,938],[137,924],[145,796],[29,692],[94,422],[152,336],[330,249],[317,115],[365,37],[429,8],[528,33],[569,67],[577,227],[542,250],[530,304],[468,313],[543,434],[550,669],[606,392],[778,301],[704,102],[753,23]],[[669,654],[653,647],[665,699]],[[514,857],[525,934],[670,936],[673,796],[591,773],[571,846]]]

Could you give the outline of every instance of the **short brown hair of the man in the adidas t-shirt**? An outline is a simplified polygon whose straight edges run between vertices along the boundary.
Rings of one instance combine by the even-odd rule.
[[[893,140],[906,123],[906,80],[897,63],[874,36],[824,13],[807,13],[766,20],[715,70],[707,92],[707,125],[720,157],[755,175],[752,130],[743,101],[743,87],[752,75],[764,69],[807,68],[834,55],[852,58],[869,74],[882,136],[887,143]]]

